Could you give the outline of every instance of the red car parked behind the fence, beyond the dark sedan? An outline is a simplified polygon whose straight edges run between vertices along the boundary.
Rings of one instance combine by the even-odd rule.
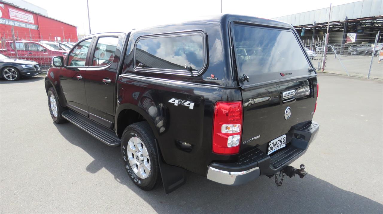
[[[6,41],[5,45],[6,49],[0,49],[0,53],[10,58],[16,58],[13,41]],[[55,50],[45,44],[25,40],[16,41],[16,50],[19,59],[36,61],[41,64],[43,70],[50,67],[53,56],[68,55],[67,51]]]

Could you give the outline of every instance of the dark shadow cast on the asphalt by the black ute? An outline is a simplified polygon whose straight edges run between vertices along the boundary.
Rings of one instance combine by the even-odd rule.
[[[153,191],[137,188],[129,179],[119,147],[109,147],[73,124],[55,124],[73,145],[94,158],[84,169],[96,173],[105,168],[117,182],[134,191],[159,213],[381,213],[383,205],[340,189],[312,175],[286,178],[281,187],[262,176],[246,185],[230,187],[187,173],[187,183],[166,195],[162,186]],[[102,153],[100,153],[102,151]],[[334,175],[343,176],[343,175]]]

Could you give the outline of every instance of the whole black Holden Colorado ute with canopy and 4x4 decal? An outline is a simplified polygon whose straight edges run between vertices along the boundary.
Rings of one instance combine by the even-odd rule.
[[[169,193],[185,170],[226,185],[307,174],[288,165],[319,130],[317,74],[290,24],[223,14],[93,34],[52,66],[53,121],[121,146],[143,190]]]

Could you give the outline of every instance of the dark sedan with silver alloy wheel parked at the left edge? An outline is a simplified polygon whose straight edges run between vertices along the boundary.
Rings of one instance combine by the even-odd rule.
[[[1,77],[7,81],[16,81],[20,77],[40,74],[41,66],[35,61],[11,59],[0,53]]]

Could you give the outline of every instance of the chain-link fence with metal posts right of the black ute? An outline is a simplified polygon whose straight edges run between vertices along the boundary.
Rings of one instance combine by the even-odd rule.
[[[358,36],[362,37],[358,42],[328,43],[327,48],[324,48],[326,35],[323,39],[302,42],[305,48],[314,52],[306,50],[309,56],[310,53],[314,55],[310,58],[318,71],[383,81],[381,32],[362,33]],[[342,38],[347,35],[336,34],[336,37]],[[326,59],[323,58],[324,51],[327,51]]]

